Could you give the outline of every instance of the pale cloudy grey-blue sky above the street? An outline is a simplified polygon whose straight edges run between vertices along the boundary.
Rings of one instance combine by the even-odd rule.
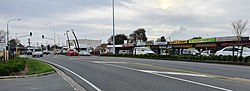
[[[250,0],[115,0],[115,34],[144,28],[148,40],[233,36],[232,21],[249,20]],[[65,45],[67,30],[79,39],[107,42],[112,35],[112,0],[0,0],[0,30],[9,23],[10,38],[33,33],[31,44]],[[73,39],[72,33],[69,33]],[[250,36],[250,30],[244,33]],[[58,38],[59,37],[59,38]],[[27,45],[29,37],[19,38]]]

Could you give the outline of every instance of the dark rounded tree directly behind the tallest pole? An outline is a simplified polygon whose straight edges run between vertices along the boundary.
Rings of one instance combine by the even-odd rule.
[[[124,40],[128,40],[128,37],[125,34],[115,35],[115,44],[123,44]],[[113,43],[113,35],[108,39],[109,44]]]

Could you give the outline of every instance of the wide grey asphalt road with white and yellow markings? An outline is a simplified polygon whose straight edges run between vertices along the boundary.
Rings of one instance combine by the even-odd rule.
[[[36,58],[89,91],[249,91],[250,67],[119,57]]]

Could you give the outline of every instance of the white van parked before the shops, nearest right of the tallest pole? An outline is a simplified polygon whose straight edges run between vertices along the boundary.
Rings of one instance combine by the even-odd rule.
[[[148,47],[135,47],[133,54],[155,54],[155,52]]]

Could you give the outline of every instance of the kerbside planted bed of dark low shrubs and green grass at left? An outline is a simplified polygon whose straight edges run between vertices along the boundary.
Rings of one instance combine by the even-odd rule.
[[[29,58],[14,58],[7,63],[0,62],[0,76],[33,75],[55,71],[51,66]]]

